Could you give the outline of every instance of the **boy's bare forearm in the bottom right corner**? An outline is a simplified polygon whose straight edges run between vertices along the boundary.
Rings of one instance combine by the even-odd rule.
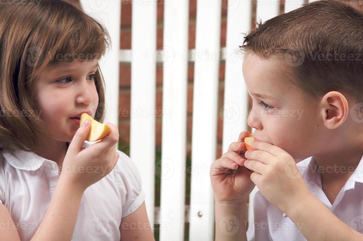
[[[362,234],[351,229],[335,216],[312,193],[291,208],[286,215],[293,221],[309,241],[363,240]]]

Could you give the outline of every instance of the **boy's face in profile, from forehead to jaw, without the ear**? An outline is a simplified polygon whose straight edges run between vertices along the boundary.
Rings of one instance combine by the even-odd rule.
[[[311,138],[318,126],[314,119],[318,116],[314,109],[317,105],[292,84],[288,70],[281,64],[274,64],[254,54],[245,56],[242,71],[253,100],[247,123],[256,128],[255,138],[274,144],[293,158],[303,160],[312,156],[319,145],[318,139]],[[261,106],[264,103],[266,107]]]

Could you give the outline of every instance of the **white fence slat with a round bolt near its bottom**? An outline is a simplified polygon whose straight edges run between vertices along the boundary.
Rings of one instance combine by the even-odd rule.
[[[221,0],[198,0],[193,93],[189,240],[214,240],[214,198],[209,168],[216,158]]]

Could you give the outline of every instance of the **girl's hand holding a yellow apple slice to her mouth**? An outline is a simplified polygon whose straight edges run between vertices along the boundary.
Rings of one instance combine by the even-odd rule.
[[[61,176],[70,179],[82,191],[110,173],[119,158],[116,152],[119,138],[117,126],[107,122],[107,126],[111,128],[109,135],[85,148],[83,143],[91,126],[89,120],[87,122],[88,125],[79,127],[73,136],[61,172]]]

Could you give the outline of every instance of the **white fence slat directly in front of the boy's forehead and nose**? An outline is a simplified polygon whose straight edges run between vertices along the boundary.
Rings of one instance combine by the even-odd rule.
[[[234,5],[239,3],[238,5]],[[229,0],[227,15],[227,41],[225,54],[223,146],[222,153],[236,142],[241,131],[248,130],[248,91],[242,74],[242,56],[238,46],[251,29],[251,11],[247,1]]]

